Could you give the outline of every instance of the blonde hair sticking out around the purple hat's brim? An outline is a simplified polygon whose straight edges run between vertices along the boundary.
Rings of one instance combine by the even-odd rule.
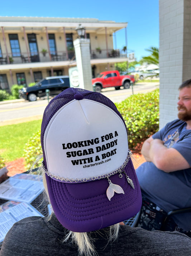
[[[47,197],[50,203],[50,199],[48,196],[48,188],[46,183],[46,176],[42,167],[39,168],[39,174],[42,174],[42,177],[43,177],[43,184],[46,192],[46,195],[44,195],[44,199],[46,199],[45,197]],[[52,214],[48,217],[48,220],[51,219]],[[119,227],[120,227],[119,223],[109,227],[108,232],[106,234],[108,236],[108,243],[114,242],[118,238]],[[97,230],[96,232],[98,234],[100,233],[99,230]],[[80,255],[83,255],[83,254],[86,256],[97,255],[94,247],[94,239],[91,238],[91,233],[92,232],[80,233],[80,232],[69,231],[68,234],[62,239],[62,242],[64,243],[70,240],[75,246],[77,246],[78,252]]]

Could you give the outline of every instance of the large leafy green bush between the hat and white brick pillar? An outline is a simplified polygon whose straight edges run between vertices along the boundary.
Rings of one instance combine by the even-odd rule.
[[[131,95],[115,105],[125,120],[130,149],[135,149],[139,143],[158,131],[159,89]]]

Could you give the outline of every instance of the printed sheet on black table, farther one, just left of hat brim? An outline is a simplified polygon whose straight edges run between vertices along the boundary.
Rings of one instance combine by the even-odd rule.
[[[28,175],[30,176],[30,174]],[[44,186],[42,181],[26,178],[19,179],[13,176],[0,184],[0,198],[31,203],[43,190]]]

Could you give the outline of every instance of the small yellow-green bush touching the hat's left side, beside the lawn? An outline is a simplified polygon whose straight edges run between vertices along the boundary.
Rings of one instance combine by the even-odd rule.
[[[41,155],[42,148],[40,144],[40,131],[37,131],[37,133],[32,135],[24,147],[23,157],[25,158],[26,169],[30,170],[31,167],[33,169],[39,167],[41,165],[41,161],[38,161],[34,166],[33,164]]]

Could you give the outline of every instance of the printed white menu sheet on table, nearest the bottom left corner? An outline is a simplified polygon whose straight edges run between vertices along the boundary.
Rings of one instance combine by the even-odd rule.
[[[31,216],[42,216],[32,205],[28,203],[19,203],[0,213],[0,242],[5,238],[6,233],[19,220]]]

